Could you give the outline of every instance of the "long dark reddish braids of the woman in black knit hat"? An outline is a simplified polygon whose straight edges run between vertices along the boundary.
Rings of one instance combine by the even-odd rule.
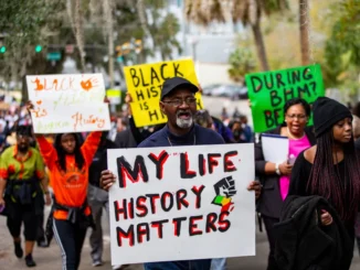
[[[307,191],[327,198],[342,220],[353,220],[360,198],[359,158],[354,150],[353,138],[351,138],[349,142],[343,143],[345,175],[340,175],[337,160],[337,165],[333,165],[333,145],[332,129],[317,139],[317,150]]]

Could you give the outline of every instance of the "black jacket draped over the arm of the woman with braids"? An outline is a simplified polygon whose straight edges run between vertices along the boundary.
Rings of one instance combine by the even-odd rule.
[[[320,222],[321,209],[333,218]],[[320,196],[288,196],[276,234],[275,259],[282,270],[347,270],[353,255],[350,239],[336,210]]]

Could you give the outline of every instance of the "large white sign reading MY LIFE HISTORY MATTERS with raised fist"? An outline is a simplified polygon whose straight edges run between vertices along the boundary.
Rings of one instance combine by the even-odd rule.
[[[255,255],[252,143],[107,153],[113,264]]]

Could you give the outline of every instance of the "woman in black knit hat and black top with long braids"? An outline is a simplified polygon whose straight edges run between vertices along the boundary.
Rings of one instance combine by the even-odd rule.
[[[359,156],[354,149],[352,116],[338,101],[320,97],[314,104],[317,144],[301,152],[294,165],[289,195],[325,197],[341,218],[353,250],[354,222],[360,199]],[[332,216],[321,210],[321,224],[332,224]],[[352,251],[341,262],[350,268]],[[338,268],[339,269],[339,268]]]

